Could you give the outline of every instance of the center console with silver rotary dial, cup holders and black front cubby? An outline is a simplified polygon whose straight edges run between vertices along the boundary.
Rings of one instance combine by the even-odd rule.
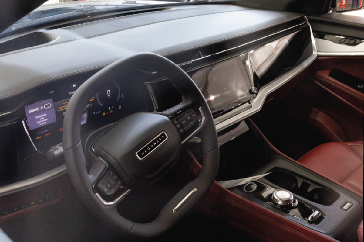
[[[219,174],[217,180],[235,180],[267,173],[258,180],[227,190],[326,237],[356,242],[356,228],[363,219],[363,197],[277,154],[250,121],[246,120],[246,123],[250,130],[242,134],[242,138],[221,146],[223,174]],[[254,145],[241,143],[244,139],[249,139]],[[240,149],[242,157],[225,154],[228,150],[225,146],[229,150],[231,147]],[[254,156],[261,160],[259,168],[256,168]],[[241,164],[229,164],[230,161],[238,163],[238,159],[242,160]],[[237,177],[237,173],[242,173],[242,176]]]

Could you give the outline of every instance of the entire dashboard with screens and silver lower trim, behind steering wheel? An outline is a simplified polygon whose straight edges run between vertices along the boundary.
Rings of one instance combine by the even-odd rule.
[[[15,45],[27,38],[27,46]],[[41,41],[31,44],[34,38]],[[158,7],[54,24],[0,39],[0,49],[10,44],[18,48],[0,52],[0,160],[13,162],[0,165],[17,175],[4,174],[1,184],[47,171],[17,172],[32,162],[48,167],[44,153],[62,142],[71,96],[120,58],[152,52],[180,66],[204,95],[219,132],[258,112],[270,92],[317,55],[304,15],[230,4]],[[89,98],[82,133],[135,112],[165,111],[181,103],[183,93],[154,70],[126,70]]]

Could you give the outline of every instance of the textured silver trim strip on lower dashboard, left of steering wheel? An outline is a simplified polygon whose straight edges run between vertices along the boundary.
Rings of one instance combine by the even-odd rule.
[[[20,192],[25,189],[29,189],[32,187],[36,187],[38,185],[41,185],[43,183],[46,183],[47,181],[53,180],[54,178],[57,178],[59,176],[62,176],[63,174],[67,173],[67,166],[66,164],[58,166],[57,168],[54,168],[48,172],[45,172],[43,174],[40,174],[38,176],[18,181],[16,183],[4,185],[3,187],[0,187],[0,197],[6,196],[15,192]]]

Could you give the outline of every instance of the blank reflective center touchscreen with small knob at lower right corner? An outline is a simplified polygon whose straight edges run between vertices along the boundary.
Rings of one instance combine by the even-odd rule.
[[[246,56],[241,55],[200,69],[191,75],[214,117],[254,97],[249,92],[252,83],[244,61]]]

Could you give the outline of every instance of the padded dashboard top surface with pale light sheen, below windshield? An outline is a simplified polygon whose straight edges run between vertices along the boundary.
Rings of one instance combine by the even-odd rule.
[[[21,95],[45,83],[90,70],[96,72],[133,53],[168,56],[238,36],[254,36],[256,31],[268,31],[298,18],[302,15],[234,5],[194,5],[40,29],[38,32],[56,33],[58,37],[50,43],[0,55],[0,112],[16,110],[24,103]],[[108,29],[116,23],[119,31]],[[90,35],[92,28],[96,36]],[[0,40],[0,45],[8,40]]]

